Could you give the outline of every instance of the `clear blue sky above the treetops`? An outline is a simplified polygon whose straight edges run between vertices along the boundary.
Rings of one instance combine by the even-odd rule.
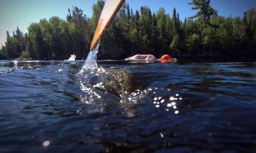
[[[139,10],[141,6],[148,6],[152,12],[157,12],[163,7],[166,13],[172,15],[174,7],[180,15],[180,19],[193,16],[197,11],[191,10],[187,3],[192,0],[126,0],[133,10]],[[12,31],[17,27],[27,33],[27,28],[32,22],[38,22],[40,18],[49,19],[58,16],[66,19],[68,8],[77,6],[88,17],[92,15],[92,5],[97,0],[0,0],[0,45],[6,41],[6,31],[12,36]],[[212,0],[210,5],[221,16],[243,16],[243,12],[255,8],[255,0]]]

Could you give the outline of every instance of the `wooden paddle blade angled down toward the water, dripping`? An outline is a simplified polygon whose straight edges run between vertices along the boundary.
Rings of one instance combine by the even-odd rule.
[[[90,48],[91,51],[96,47],[99,39],[103,36],[106,28],[109,27],[111,21],[114,19],[123,3],[124,0],[106,0],[98,21],[95,34],[93,36],[93,41]]]

